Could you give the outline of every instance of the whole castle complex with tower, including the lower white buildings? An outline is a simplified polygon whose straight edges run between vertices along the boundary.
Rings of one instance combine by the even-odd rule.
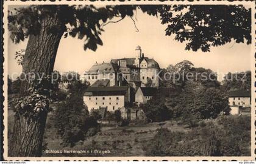
[[[96,62],[82,77],[90,83],[84,94],[88,111],[100,109],[105,113],[119,109],[123,118],[137,118],[138,111],[127,110],[127,106],[139,106],[154,96],[159,86],[159,71],[157,61],[144,56],[140,46],[135,49],[135,58]]]

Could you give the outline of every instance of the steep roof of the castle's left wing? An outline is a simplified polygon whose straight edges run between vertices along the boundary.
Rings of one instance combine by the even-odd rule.
[[[88,71],[88,74],[96,74],[96,73],[115,73],[118,71],[116,64],[112,63],[101,63],[94,64]]]

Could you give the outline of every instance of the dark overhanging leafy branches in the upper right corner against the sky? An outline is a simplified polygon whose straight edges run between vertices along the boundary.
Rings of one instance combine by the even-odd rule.
[[[210,51],[211,46],[251,44],[251,9],[243,5],[153,5],[140,6],[149,15],[160,13],[166,35],[175,35],[185,50]],[[150,12],[148,11],[150,10]]]

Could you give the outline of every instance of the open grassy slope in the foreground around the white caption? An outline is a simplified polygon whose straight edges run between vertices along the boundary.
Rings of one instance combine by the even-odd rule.
[[[84,142],[77,143],[73,148],[61,145],[62,140],[57,137],[56,129],[52,126],[52,115],[48,115],[46,122],[46,131],[44,133],[44,144],[50,150],[110,150],[111,154],[104,156],[143,156],[145,151],[143,143],[152,139],[156,134],[156,129],[164,127],[171,131],[188,131],[180,126],[173,126],[169,121],[164,123],[149,123],[145,126],[127,126],[127,127],[102,127],[101,132],[93,137],[87,138]],[[54,156],[60,154],[46,154],[43,156]],[[69,156],[101,156],[101,154],[62,154]]]

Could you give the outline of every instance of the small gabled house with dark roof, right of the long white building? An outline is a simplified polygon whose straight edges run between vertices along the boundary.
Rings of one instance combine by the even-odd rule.
[[[145,104],[157,93],[157,87],[139,87],[135,94],[137,105]]]

